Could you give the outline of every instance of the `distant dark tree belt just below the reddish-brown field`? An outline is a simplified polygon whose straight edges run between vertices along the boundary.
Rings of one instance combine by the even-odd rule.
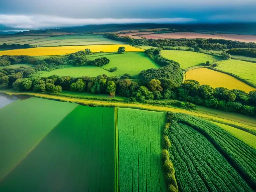
[[[119,37],[114,33],[105,34],[106,38],[122,41],[131,45],[149,45],[168,49],[168,47],[187,46],[191,48],[202,48],[207,50],[232,49],[232,48],[256,48],[256,44],[232,41],[225,39],[131,39],[129,37]]]

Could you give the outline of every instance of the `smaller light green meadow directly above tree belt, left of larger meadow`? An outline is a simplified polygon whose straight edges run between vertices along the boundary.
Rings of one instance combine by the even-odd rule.
[[[39,77],[49,77],[51,75],[58,76],[71,76],[71,77],[97,77],[98,75],[106,74],[111,76],[112,74],[100,67],[96,66],[82,66],[82,67],[73,67],[71,65],[65,66],[63,69],[56,69],[53,71],[40,71],[36,74]]]

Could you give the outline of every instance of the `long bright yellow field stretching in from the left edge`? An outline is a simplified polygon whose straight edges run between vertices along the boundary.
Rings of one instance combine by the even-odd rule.
[[[92,52],[117,52],[119,47],[125,47],[125,51],[144,51],[143,49],[132,47],[130,45],[89,45],[89,46],[63,46],[63,47],[36,47],[31,49],[15,49],[0,51],[3,55],[28,55],[28,56],[51,56],[51,55],[69,55],[71,53],[91,49]]]

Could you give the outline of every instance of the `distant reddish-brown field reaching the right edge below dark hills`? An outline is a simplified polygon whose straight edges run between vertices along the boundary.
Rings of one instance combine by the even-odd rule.
[[[151,34],[151,35],[142,35],[141,37],[145,37],[147,39],[226,39],[226,40],[234,40],[234,41],[242,41],[242,42],[255,42],[256,36],[254,35],[232,35],[232,34],[200,34],[200,33],[191,33],[191,32],[180,32],[180,33],[163,33],[163,34]]]

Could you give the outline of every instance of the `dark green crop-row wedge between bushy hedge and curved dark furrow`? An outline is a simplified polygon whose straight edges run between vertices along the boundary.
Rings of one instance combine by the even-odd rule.
[[[238,172],[202,134],[174,122],[171,158],[179,191],[252,191]]]

